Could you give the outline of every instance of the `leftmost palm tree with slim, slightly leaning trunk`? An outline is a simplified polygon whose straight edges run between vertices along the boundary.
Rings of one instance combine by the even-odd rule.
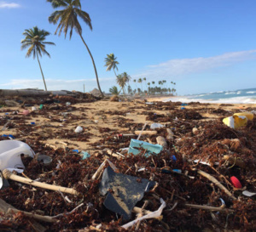
[[[40,30],[38,29],[38,26],[34,26],[32,29],[25,30],[23,32],[23,35],[26,36],[25,39],[21,40],[21,50],[28,48],[26,57],[30,57],[33,54],[33,59],[37,57],[38,59],[38,54],[42,57],[42,54],[47,54],[49,57],[49,53],[45,50],[45,44],[49,45],[55,45],[54,42],[45,42],[45,37],[49,36],[48,31]],[[43,76],[43,81],[44,81],[44,88],[45,91],[47,91],[46,88],[46,83],[44,80],[44,73],[42,71],[42,67],[40,64],[40,61],[38,59],[38,64],[40,67],[41,74]]]

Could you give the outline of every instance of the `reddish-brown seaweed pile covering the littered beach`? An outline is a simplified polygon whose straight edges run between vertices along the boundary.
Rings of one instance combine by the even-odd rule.
[[[66,105],[67,101],[73,105]],[[59,109],[50,110],[53,105],[51,102],[39,114],[47,118],[49,123],[60,122],[60,116],[65,118],[65,123],[88,119],[86,110],[76,107],[78,102],[78,99],[59,99]],[[42,104],[38,101],[35,103]],[[112,167],[111,163],[118,173],[137,177],[137,182],[148,179],[156,183],[153,189],[144,193],[137,207],[145,207],[145,211],[154,212],[160,207],[160,199],[166,202],[160,217],[143,220],[130,227],[130,231],[255,231],[256,198],[255,195],[244,193],[256,193],[256,119],[248,122],[246,127],[235,130],[221,121],[227,115],[226,110],[213,110],[213,113],[220,116],[219,119],[203,120],[200,110],[196,109],[196,106],[202,104],[191,103],[193,108],[184,110],[180,110],[180,103],[172,102],[141,105],[125,111],[102,112],[102,115],[117,116],[115,123],[123,127],[123,131],[118,133],[124,136],[117,136],[117,131],[108,127],[100,127],[102,139],[90,144],[93,148],[91,156],[84,160],[68,144],[51,147],[44,142],[49,138],[87,141],[93,136],[89,129],[84,133],[72,133],[62,128],[57,133],[57,126],[28,125],[28,118],[37,119],[36,112],[20,117],[11,115],[10,110],[4,107],[0,109],[1,112],[10,113],[2,116],[2,127],[7,123],[9,128],[15,127],[16,139],[28,144],[36,154],[44,154],[52,159],[50,166],[44,166],[37,159],[22,156],[26,167],[24,176],[79,192],[78,195],[63,194],[9,180],[9,188],[0,190],[0,198],[22,212],[1,212],[0,229],[38,231],[33,222],[35,219],[24,213],[33,212],[52,218],[50,222],[38,220],[45,231],[126,231],[122,225],[127,221],[104,207],[106,196],[101,195],[99,190],[102,173],[92,178],[102,162],[108,159],[110,162],[105,162],[104,167]],[[120,154],[120,149],[129,147],[131,138],[137,138],[132,134],[126,137],[125,133],[133,133],[131,129],[143,129],[143,123],[134,123],[125,118],[125,114],[142,109],[148,121],[161,123],[164,127],[157,128],[156,134],[142,135],[141,140],[155,144],[157,137],[162,136],[167,138],[166,149],[148,157],[144,156],[143,149],[137,156],[128,155],[127,152]],[[63,112],[68,110],[70,113],[80,110],[81,114],[66,114],[64,117]],[[168,137],[167,128],[172,130],[172,138]],[[144,130],[148,131],[150,127],[146,126]],[[30,133],[30,136],[24,139],[24,133]],[[9,138],[0,138],[6,139]],[[240,180],[241,188],[232,184],[231,177]],[[137,213],[132,212],[131,220],[135,218]]]

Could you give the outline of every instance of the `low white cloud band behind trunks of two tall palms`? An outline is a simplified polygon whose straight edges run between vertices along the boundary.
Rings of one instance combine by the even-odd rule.
[[[49,90],[77,90],[89,92],[93,88],[97,88],[96,78],[79,79],[79,80],[61,80],[61,79],[45,79],[46,86]],[[115,78],[99,78],[102,91],[107,91],[109,85],[115,83]],[[19,88],[40,88],[44,89],[42,78],[39,79],[12,79],[10,82],[0,84],[0,88],[19,89]]]

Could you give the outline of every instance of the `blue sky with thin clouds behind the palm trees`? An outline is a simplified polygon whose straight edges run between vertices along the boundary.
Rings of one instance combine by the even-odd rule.
[[[117,86],[104,59],[114,54],[118,74],[148,82],[176,82],[178,95],[256,88],[255,0],[81,0],[93,30],[80,20],[102,91]],[[97,88],[93,65],[79,35],[55,35],[46,0],[0,0],[0,88],[44,88],[37,59],[20,50],[23,32],[49,31],[50,54],[40,58],[49,90]],[[152,86],[152,83],[151,83]],[[137,84],[137,87],[141,87]],[[131,82],[131,88],[136,88]]]

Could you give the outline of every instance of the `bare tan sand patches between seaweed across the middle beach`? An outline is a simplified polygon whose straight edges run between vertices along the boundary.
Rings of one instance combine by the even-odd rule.
[[[170,97],[168,97],[170,98]],[[162,100],[163,98],[157,99],[148,99],[149,101],[158,101]],[[38,105],[36,105],[38,107]],[[131,102],[112,102],[109,100],[100,100],[93,103],[83,103],[83,104],[76,104],[73,105],[77,110],[73,110],[68,112],[69,114],[72,114],[73,116],[81,116],[82,113],[84,113],[82,120],[69,120],[69,122],[63,121],[63,116],[61,115],[54,115],[54,110],[49,110],[49,116],[55,117],[59,120],[59,122],[52,122],[51,118],[46,118],[42,115],[40,115],[40,111],[38,110],[35,114],[36,117],[33,115],[31,116],[22,116],[19,115],[20,119],[24,119],[25,123],[30,124],[31,122],[35,122],[37,127],[37,132],[41,133],[46,137],[46,139],[43,140],[44,144],[52,145],[53,147],[63,147],[60,142],[64,142],[68,144],[68,147],[70,149],[75,150],[94,150],[95,146],[92,146],[92,143],[96,143],[102,138],[105,138],[106,136],[109,136],[109,134],[118,134],[118,133],[134,133],[133,131],[129,131],[127,127],[119,127],[117,122],[122,121],[123,119],[130,119],[132,123],[145,123],[146,116],[141,115],[142,111],[145,111],[144,106],[146,104],[141,99],[135,99]],[[253,108],[256,107],[256,105],[220,105],[220,104],[201,104],[201,105],[187,105],[186,108],[195,108],[197,109],[204,109],[204,112],[201,113],[201,116],[204,117],[204,120],[214,120],[218,119],[220,116],[216,114],[212,114],[210,110],[207,109],[222,109],[222,110],[230,110],[230,116],[232,115],[231,111],[234,112],[241,111],[241,110],[247,110],[247,108]],[[84,108],[84,109],[83,109]],[[31,110],[31,107],[26,107],[27,110]],[[178,107],[177,107],[178,109]],[[19,110],[20,112],[24,109],[17,108],[17,107],[4,107],[0,109],[0,116],[5,116],[5,112],[1,112],[4,110],[6,112],[12,112],[15,110]],[[59,112],[65,112],[67,108],[63,110],[59,110]],[[109,111],[118,111],[121,115],[117,114],[109,114]],[[166,114],[168,113],[168,110],[154,110],[154,113],[156,114]],[[152,123],[152,122],[148,122]],[[55,127],[50,127],[55,126]],[[91,133],[90,139],[87,142],[79,142],[79,141],[71,141],[69,139],[58,139],[56,136],[54,139],[47,139],[47,134],[55,133],[58,130],[61,130],[62,128],[68,129],[72,131],[73,133],[75,128],[77,126],[84,128],[84,134]],[[101,128],[109,128],[108,133],[101,133]],[[19,134],[21,136],[18,136],[21,139],[26,139],[27,137],[31,137],[33,133],[22,133],[19,130],[17,130],[16,127],[2,131],[0,134]]]

